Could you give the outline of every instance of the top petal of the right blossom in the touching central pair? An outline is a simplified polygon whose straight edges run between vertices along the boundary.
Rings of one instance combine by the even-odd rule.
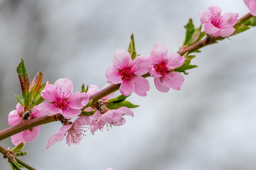
[[[154,44],[153,49],[150,52],[151,60],[154,64],[159,64],[167,58],[167,48],[164,44],[157,42]]]

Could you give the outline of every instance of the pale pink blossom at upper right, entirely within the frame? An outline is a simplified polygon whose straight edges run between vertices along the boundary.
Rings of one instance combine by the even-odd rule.
[[[200,20],[204,24],[204,32],[208,35],[228,37],[234,33],[233,26],[238,21],[238,13],[227,12],[220,15],[221,8],[211,5],[208,11],[200,11]]]

